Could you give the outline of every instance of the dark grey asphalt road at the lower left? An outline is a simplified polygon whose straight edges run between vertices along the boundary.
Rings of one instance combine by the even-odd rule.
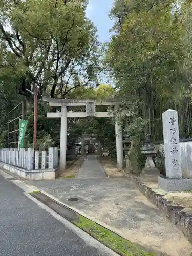
[[[68,223],[59,221],[0,175],[1,256],[109,256],[108,248]]]

